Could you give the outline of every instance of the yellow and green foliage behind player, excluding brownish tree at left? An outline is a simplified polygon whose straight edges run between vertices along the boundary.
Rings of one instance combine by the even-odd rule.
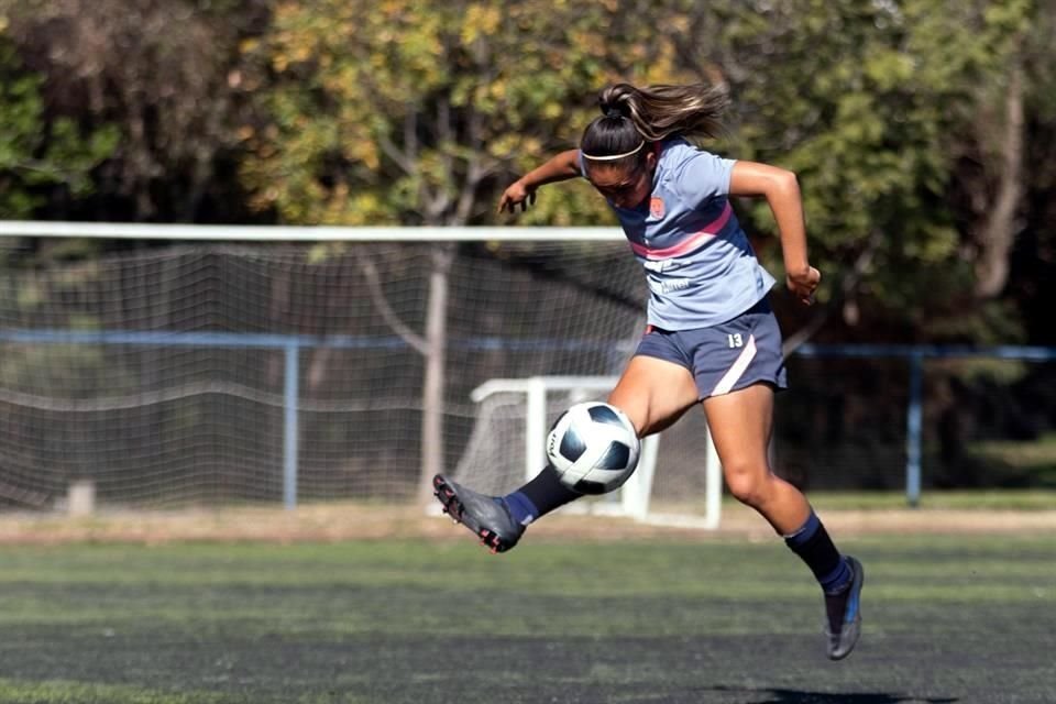
[[[850,276],[850,295],[899,326],[964,306],[974,261],[950,183],[1031,2],[668,0],[649,4],[649,22],[629,10],[282,3],[244,47],[275,79],[258,96],[267,122],[246,130],[255,207],[289,222],[492,222],[517,174],[575,144],[604,85],[724,80],[730,133],[711,148],[799,174],[822,300]],[[773,233],[765,202],[739,210]],[[543,188],[517,222],[614,220],[573,183]],[[777,248],[766,252],[779,270]]]

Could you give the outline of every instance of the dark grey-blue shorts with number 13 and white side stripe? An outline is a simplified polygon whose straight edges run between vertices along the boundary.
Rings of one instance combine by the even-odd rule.
[[[779,391],[789,386],[781,329],[766,298],[733,320],[711,328],[661,330],[650,326],[635,354],[684,366],[696,380],[701,398],[758,383]]]

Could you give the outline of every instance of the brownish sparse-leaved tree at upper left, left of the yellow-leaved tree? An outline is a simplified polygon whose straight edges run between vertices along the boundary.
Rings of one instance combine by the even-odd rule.
[[[48,116],[112,125],[117,150],[94,175],[97,200],[66,218],[201,221],[244,217],[224,176],[250,89],[239,42],[266,0],[0,0],[10,35],[42,86]],[[229,169],[233,170],[233,169]],[[233,205],[233,207],[232,207]]]

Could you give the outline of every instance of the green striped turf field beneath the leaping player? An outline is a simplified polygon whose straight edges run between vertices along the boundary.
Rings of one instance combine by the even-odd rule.
[[[1056,536],[844,547],[839,663],[777,540],[2,547],[0,702],[1056,702]]]

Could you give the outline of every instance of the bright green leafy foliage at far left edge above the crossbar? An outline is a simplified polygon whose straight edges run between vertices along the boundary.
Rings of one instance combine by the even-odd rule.
[[[87,195],[91,169],[118,143],[111,128],[82,134],[73,120],[46,114],[43,81],[22,66],[0,24],[0,218],[29,217],[48,186]]]

